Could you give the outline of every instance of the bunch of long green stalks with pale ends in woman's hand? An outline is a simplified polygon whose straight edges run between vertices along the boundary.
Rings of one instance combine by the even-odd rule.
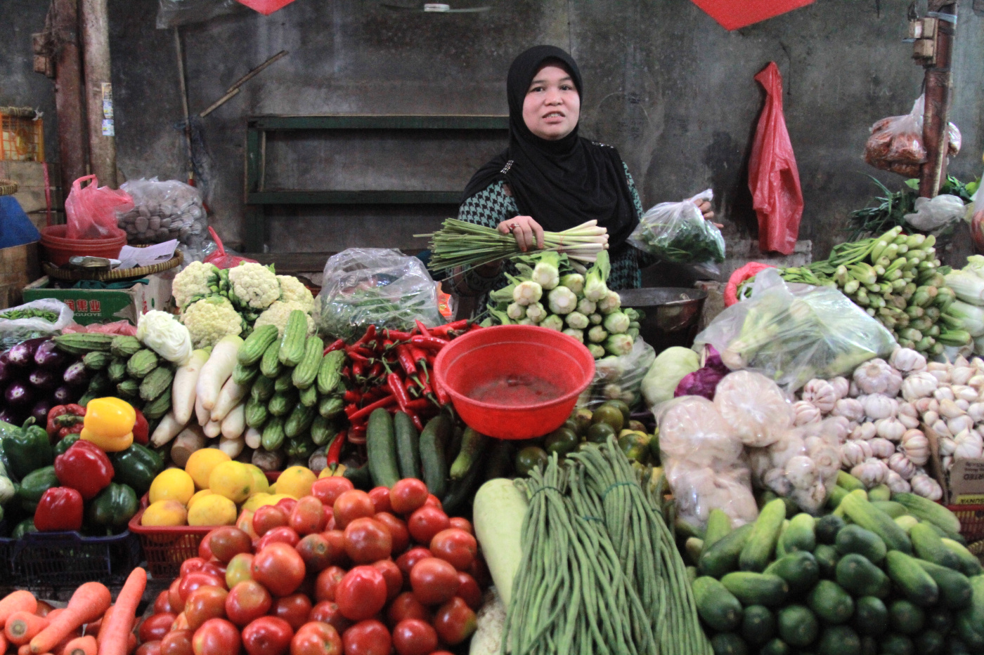
[[[543,250],[564,253],[580,262],[594,262],[598,253],[608,249],[608,231],[598,227],[597,222],[588,220],[563,232],[544,232]],[[431,270],[473,268],[523,256],[512,234],[458,218],[445,219],[437,232],[414,236],[430,237]]]

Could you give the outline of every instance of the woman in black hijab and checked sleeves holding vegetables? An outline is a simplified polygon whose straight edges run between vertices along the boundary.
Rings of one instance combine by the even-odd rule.
[[[618,150],[578,136],[583,91],[578,64],[558,47],[537,45],[516,58],[507,78],[509,149],[468,182],[459,218],[512,233],[523,252],[543,247],[544,229],[595,219],[608,230],[609,288],[639,287],[640,268],[655,260],[626,239],[643,206]],[[700,209],[713,217],[709,203]],[[484,296],[508,284],[504,268],[516,272],[499,262],[456,270],[448,281],[460,296]]]

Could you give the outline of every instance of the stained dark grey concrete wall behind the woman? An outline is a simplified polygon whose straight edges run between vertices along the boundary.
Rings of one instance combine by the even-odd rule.
[[[46,3],[0,0],[0,104],[53,117],[51,85],[31,73],[30,33]],[[392,4],[419,5],[415,0]],[[753,77],[769,61],[783,102],[806,201],[801,239],[826,255],[852,209],[900,178],[861,160],[873,122],[908,110],[922,69],[901,42],[909,0],[818,0],[727,32],[689,0],[458,0],[481,14],[403,13],[368,0],[296,0],[263,17],[249,10],[181,28],[188,93],[199,112],[280,49],[290,54],[200,124],[200,158],[219,233],[243,236],[245,117],[260,113],[506,113],[505,75],[525,47],[560,45],[584,74],[584,135],[620,149],[646,206],[708,186],[736,241],[755,234],[747,187],[764,93]],[[925,4],[925,3],[924,3]],[[980,174],[984,149],[984,7],[964,0],[954,60],[952,120],[963,150],[951,170]],[[156,30],[156,0],[109,0],[119,167],[128,178],[183,179],[185,145],[172,30]],[[13,30],[13,34],[10,33]],[[53,137],[53,120],[47,131]],[[56,156],[53,138],[49,157]],[[371,146],[371,147],[370,147]],[[499,145],[403,140],[358,144],[338,135],[272,147],[284,186],[459,189]],[[339,153],[344,156],[339,157]],[[411,246],[452,208],[280,208],[271,251]]]

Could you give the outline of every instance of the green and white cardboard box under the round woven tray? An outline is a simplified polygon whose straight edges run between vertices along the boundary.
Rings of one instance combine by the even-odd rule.
[[[134,284],[129,289],[57,289],[52,288],[51,280],[45,275],[24,288],[24,302],[40,298],[60,300],[75,312],[75,322],[82,326],[121,320],[136,326],[139,316],[151,310],[168,310],[173,277],[173,274],[148,275],[147,284]]]

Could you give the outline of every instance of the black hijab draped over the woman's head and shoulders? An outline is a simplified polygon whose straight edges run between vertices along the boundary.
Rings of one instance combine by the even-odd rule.
[[[506,82],[509,149],[478,169],[464,190],[464,200],[496,180],[505,180],[521,213],[532,216],[545,230],[558,232],[596,219],[608,230],[612,250],[620,250],[639,217],[618,150],[579,137],[577,126],[563,139],[540,139],[523,121],[526,91],[540,67],[551,61],[570,72],[584,98],[581,71],[564,50],[537,45],[517,57]]]

